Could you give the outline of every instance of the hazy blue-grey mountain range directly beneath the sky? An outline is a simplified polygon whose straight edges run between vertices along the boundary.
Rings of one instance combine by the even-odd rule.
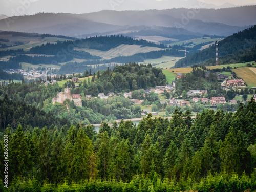
[[[256,24],[256,6],[217,10],[174,8],[146,11],[105,10],[85,14],[38,13],[9,18],[0,15],[1,18],[4,18],[0,20],[2,31],[49,33],[78,38],[109,34],[132,37],[151,34],[169,38],[194,35],[196,38],[204,34],[228,36]]]

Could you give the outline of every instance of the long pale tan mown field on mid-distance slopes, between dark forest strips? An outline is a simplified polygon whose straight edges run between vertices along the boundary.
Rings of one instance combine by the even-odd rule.
[[[91,53],[92,55],[102,57],[102,59],[111,59],[118,56],[130,56],[136,53],[146,53],[150,51],[159,51],[162,49],[157,47],[147,47],[147,46],[141,47],[138,45],[121,44],[120,46],[110,49],[109,51],[100,51],[100,50],[87,49],[87,48],[80,48],[80,49],[75,48],[75,50],[86,51],[88,53]]]

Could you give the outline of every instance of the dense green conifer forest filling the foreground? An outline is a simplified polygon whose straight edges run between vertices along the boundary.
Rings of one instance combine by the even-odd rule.
[[[8,126],[10,190],[245,191],[256,189],[256,102],[236,113],[175,110],[94,126]],[[1,154],[4,142],[0,142]],[[0,167],[3,169],[3,158]],[[2,173],[1,173],[2,174]],[[1,175],[3,178],[3,175]],[[4,184],[1,183],[4,191]]]

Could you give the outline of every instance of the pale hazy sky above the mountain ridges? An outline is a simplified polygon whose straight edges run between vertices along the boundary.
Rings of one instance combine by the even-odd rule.
[[[0,0],[0,15],[30,15],[38,12],[89,13],[100,10],[146,10],[179,7],[218,8],[256,4],[255,0]],[[229,5],[230,4],[230,5]]]

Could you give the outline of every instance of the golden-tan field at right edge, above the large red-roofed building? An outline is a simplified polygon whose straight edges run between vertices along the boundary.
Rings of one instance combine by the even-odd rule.
[[[256,87],[256,68],[232,69],[249,87]]]

